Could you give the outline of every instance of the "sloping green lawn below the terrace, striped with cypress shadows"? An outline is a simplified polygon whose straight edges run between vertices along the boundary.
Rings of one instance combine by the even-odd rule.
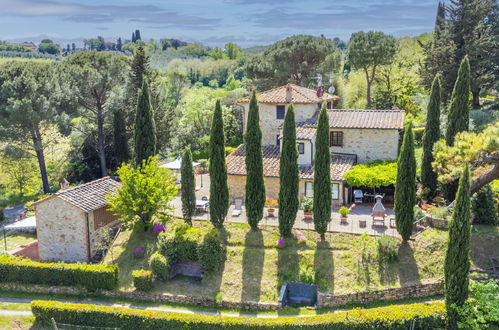
[[[209,228],[206,222],[195,226]],[[372,238],[372,260],[360,266],[360,236],[328,234],[326,242],[317,244],[315,232],[302,233],[306,244],[287,242],[277,248],[278,229],[262,228],[252,232],[245,224],[229,224],[226,232],[227,255],[223,269],[206,276],[201,284],[187,279],[157,281],[155,292],[215,297],[223,294],[228,301],[277,301],[280,282],[296,279],[305,269],[315,271],[321,291],[335,294],[400,287],[443,278],[444,251],[447,231],[430,228],[415,241],[399,244],[399,260],[394,263],[378,261],[375,238]],[[483,239],[487,237],[487,239]],[[494,244],[499,243],[497,228],[476,226],[473,229],[472,264],[483,267]],[[133,251],[146,251],[143,258],[135,258]],[[120,288],[133,289],[133,269],[148,268],[147,258],[156,249],[152,233],[136,230],[120,233],[104,262],[120,266]]]

